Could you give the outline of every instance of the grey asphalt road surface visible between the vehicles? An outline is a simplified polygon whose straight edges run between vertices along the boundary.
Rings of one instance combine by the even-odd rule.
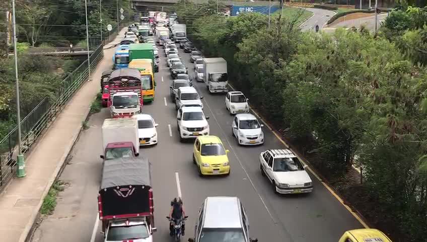
[[[112,53],[113,49],[107,50],[105,55],[108,58]],[[180,56],[189,67],[190,75],[194,75],[189,55],[180,51]],[[159,124],[159,144],[140,150],[140,155],[148,157],[153,164],[158,228],[155,241],[170,241],[165,216],[169,213],[171,199],[177,196],[177,186],[181,188],[189,215],[183,241],[193,235],[198,209],[207,196],[239,197],[249,216],[250,235],[259,241],[333,242],[345,230],[362,227],[313,174],[310,174],[314,182],[312,194],[274,194],[266,178],[260,174],[258,156],[266,149],[285,148],[284,145],[264,128],[264,145],[238,146],[230,132],[233,117],[225,108],[225,95],[208,94],[204,84],[194,80],[195,87],[204,96],[204,112],[210,117],[210,134],[219,136],[226,149],[230,149],[231,164],[231,175],[228,177],[199,177],[191,160],[192,142],[179,142],[176,110],[169,97],[171,78],[164,53],[160,67],[155,77],[156,99],[154,103],[144,106],[144,112],[151,114]],[[81,135],[72,151],[72,158],[60,176],[68,185],[59,194],[54,213],[40,224],[32,241],[103,241],[97,222],[96,198],[102,168],[99,158],[102,152],[101,126],[104,118],[108,117],[107,109],[90,117],[90,128]]]

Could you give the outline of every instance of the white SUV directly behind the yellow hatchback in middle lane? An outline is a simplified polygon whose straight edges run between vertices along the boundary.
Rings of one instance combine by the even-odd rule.
[[[180,140],[209,135],[209,124],[201,107],[182,107],[176,117]]]

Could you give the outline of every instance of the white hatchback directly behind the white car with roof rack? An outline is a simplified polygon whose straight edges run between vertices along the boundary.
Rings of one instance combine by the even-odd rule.
[[[264,144],[262,127],[253,114],[240,113],[234,117],[231,131],[239,145],[261,145]]]

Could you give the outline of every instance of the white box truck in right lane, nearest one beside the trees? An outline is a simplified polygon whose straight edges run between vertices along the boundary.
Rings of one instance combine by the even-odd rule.
[[[203,58],[204,83],[210,93],[228,92],[227,61],[223,57]]]

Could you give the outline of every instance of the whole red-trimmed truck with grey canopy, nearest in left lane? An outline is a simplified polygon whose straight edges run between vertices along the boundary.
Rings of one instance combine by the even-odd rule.
[[[152,241],[154,203],[147,158],[105,160],[98,192],[105,241]]]

